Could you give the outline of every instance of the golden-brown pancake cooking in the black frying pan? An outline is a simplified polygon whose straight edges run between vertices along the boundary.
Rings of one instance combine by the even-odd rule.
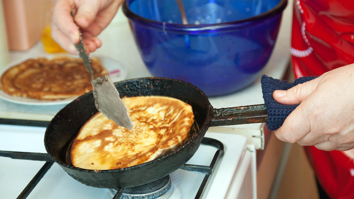
[[[122,98],[133,128],[117,126],[98,112],[80,129],[70,152],[75,167],[92,170],[125,168],[176,150],[194,121],[192,106],[163,96]]]

